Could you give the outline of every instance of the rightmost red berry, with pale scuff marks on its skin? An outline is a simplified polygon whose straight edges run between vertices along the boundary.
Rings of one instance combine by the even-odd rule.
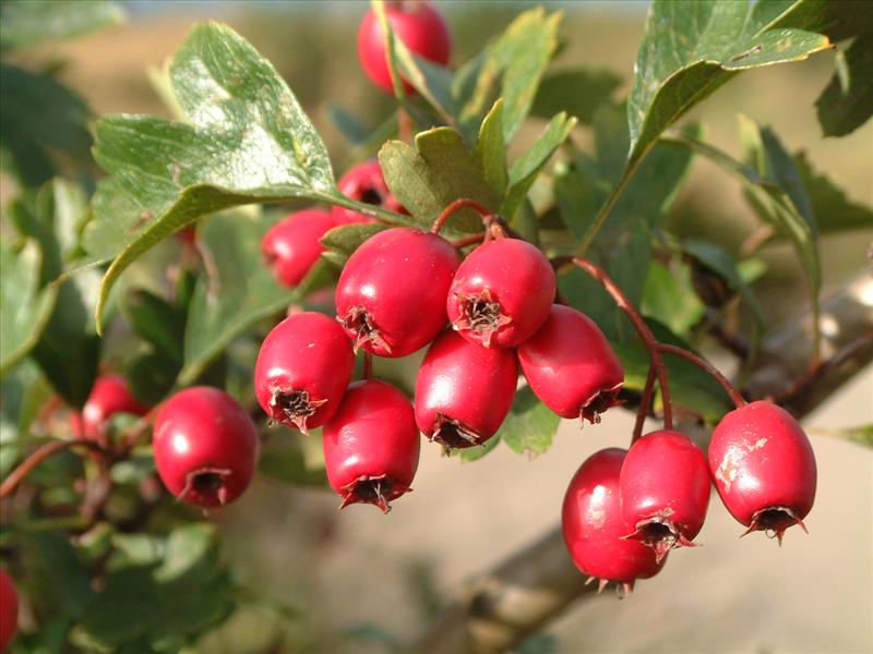
[[[815,456],[806,434],[785,409],[752,402],[721,419],[709,441],[709,471],[731,514],[779,542],[815,499]]]

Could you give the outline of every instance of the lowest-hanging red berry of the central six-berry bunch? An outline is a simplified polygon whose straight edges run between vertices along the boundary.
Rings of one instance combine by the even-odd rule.
[[[343,497],[340,508],[369,502],[387,512],[409,492],[420,439],[409,400],[380,382],[355,382],[336,415],[324,425],[327,481]]]

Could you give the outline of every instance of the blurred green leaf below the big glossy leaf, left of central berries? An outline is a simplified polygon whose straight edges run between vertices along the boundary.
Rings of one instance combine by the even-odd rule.
[[[326,264],[316,264],[297,289],[280,286],[261,258],[262,219],[239,211],[219,214],[200,232],[201,247],[214,263],[214,276],[198,279],[184,334],[183,386],[253,324],[280,312],[330,281]]]

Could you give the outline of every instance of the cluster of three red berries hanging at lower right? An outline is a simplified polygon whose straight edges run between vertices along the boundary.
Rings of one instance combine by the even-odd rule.
[[[602,589],[630,591],[656,574],[672,547],[694,545],[706,518],[710,480],[748,530],[781,542],[815,498],[812,447],[797,421],[770,402],[728,413],[707,458],[679,432],[653,432],[630,450],[603,449],[578,469],[564,497],[564,542],[576,566]]]

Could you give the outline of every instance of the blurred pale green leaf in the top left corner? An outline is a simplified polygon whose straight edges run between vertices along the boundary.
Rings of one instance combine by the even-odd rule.
[[[4,0],[0,4],[3,23],[0,48],[22,48],[87,34],[116,25],[124,12],[105,0]]]

